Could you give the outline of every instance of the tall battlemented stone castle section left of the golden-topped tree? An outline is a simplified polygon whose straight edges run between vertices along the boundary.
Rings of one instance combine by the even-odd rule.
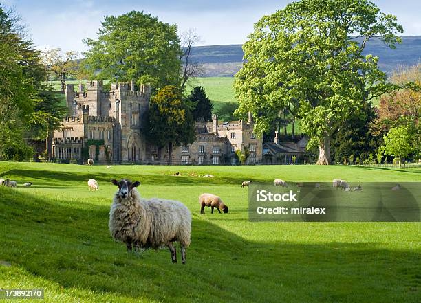
[[[146,153],[142,135],[149,109],[151,87],[135,82],[111,84],[104,91],[102,81],[87,85],[66,85],[69,116],[61,130],[54,132],[56,159],[86,157],[115,163],[138,162]]]

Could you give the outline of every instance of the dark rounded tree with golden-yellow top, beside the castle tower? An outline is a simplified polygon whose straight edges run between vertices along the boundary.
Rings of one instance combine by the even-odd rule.
[[[149,121],[145,135],[149,142],[157,144],[159,155],[162,148],[169,146],[169,164],[173,146],[191,144],[195,140],[195,121],[191,111],[191,103],[184,100],[181,89],[173,85],[160,89],[149,103]]]

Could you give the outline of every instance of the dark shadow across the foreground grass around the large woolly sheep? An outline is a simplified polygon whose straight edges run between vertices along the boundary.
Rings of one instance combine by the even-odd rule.
[[[419,298],[420,251],[382,249],[367,242],[246,240],[193,216],[187,265],[173,265],[166,249],[136,255],[115,243],[107,227],[109,207],[76,204],[78,208],[67,201],[0,188],[0,260],[12,262],[10,270],[21,267],[69,293],[77,288],[80,296],[93,291],[98,296],[114,295],[117,301],[120,294],[133,302],[141,298],[416,302]],[[259,234],[261,227],[255,228]]]

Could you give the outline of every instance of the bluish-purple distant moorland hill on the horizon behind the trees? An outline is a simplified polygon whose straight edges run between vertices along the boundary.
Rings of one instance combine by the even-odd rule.
[[[365,54],[379,57],[382,71],[389,73],[399,65],[414,65],[421,60],[421,36],[402,36],[402,44],[389,49],[376,39],[370,41]],[[204,65],[206,77],[231,77],[240,68],[243,49],[240,44],[193,47],[192,56]]]

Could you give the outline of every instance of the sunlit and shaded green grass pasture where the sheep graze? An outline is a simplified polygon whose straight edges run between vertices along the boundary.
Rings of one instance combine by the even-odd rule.
[[[181,176],[172,176],[180,172]],[[200,178],[211,174],[214,178]],[[353,166],[77,166],[0,162],[0,286],[45,302],[420,302],[420,223],[251,223],[241,181],[421,181],[421,169]],[[100,190],[89,192],[87,179]],[[187,264],[111,239],[111,178],[193,214]],[[219,194],[228,214],[199,214]],[[179,251],[180,257],[180,251]]]

